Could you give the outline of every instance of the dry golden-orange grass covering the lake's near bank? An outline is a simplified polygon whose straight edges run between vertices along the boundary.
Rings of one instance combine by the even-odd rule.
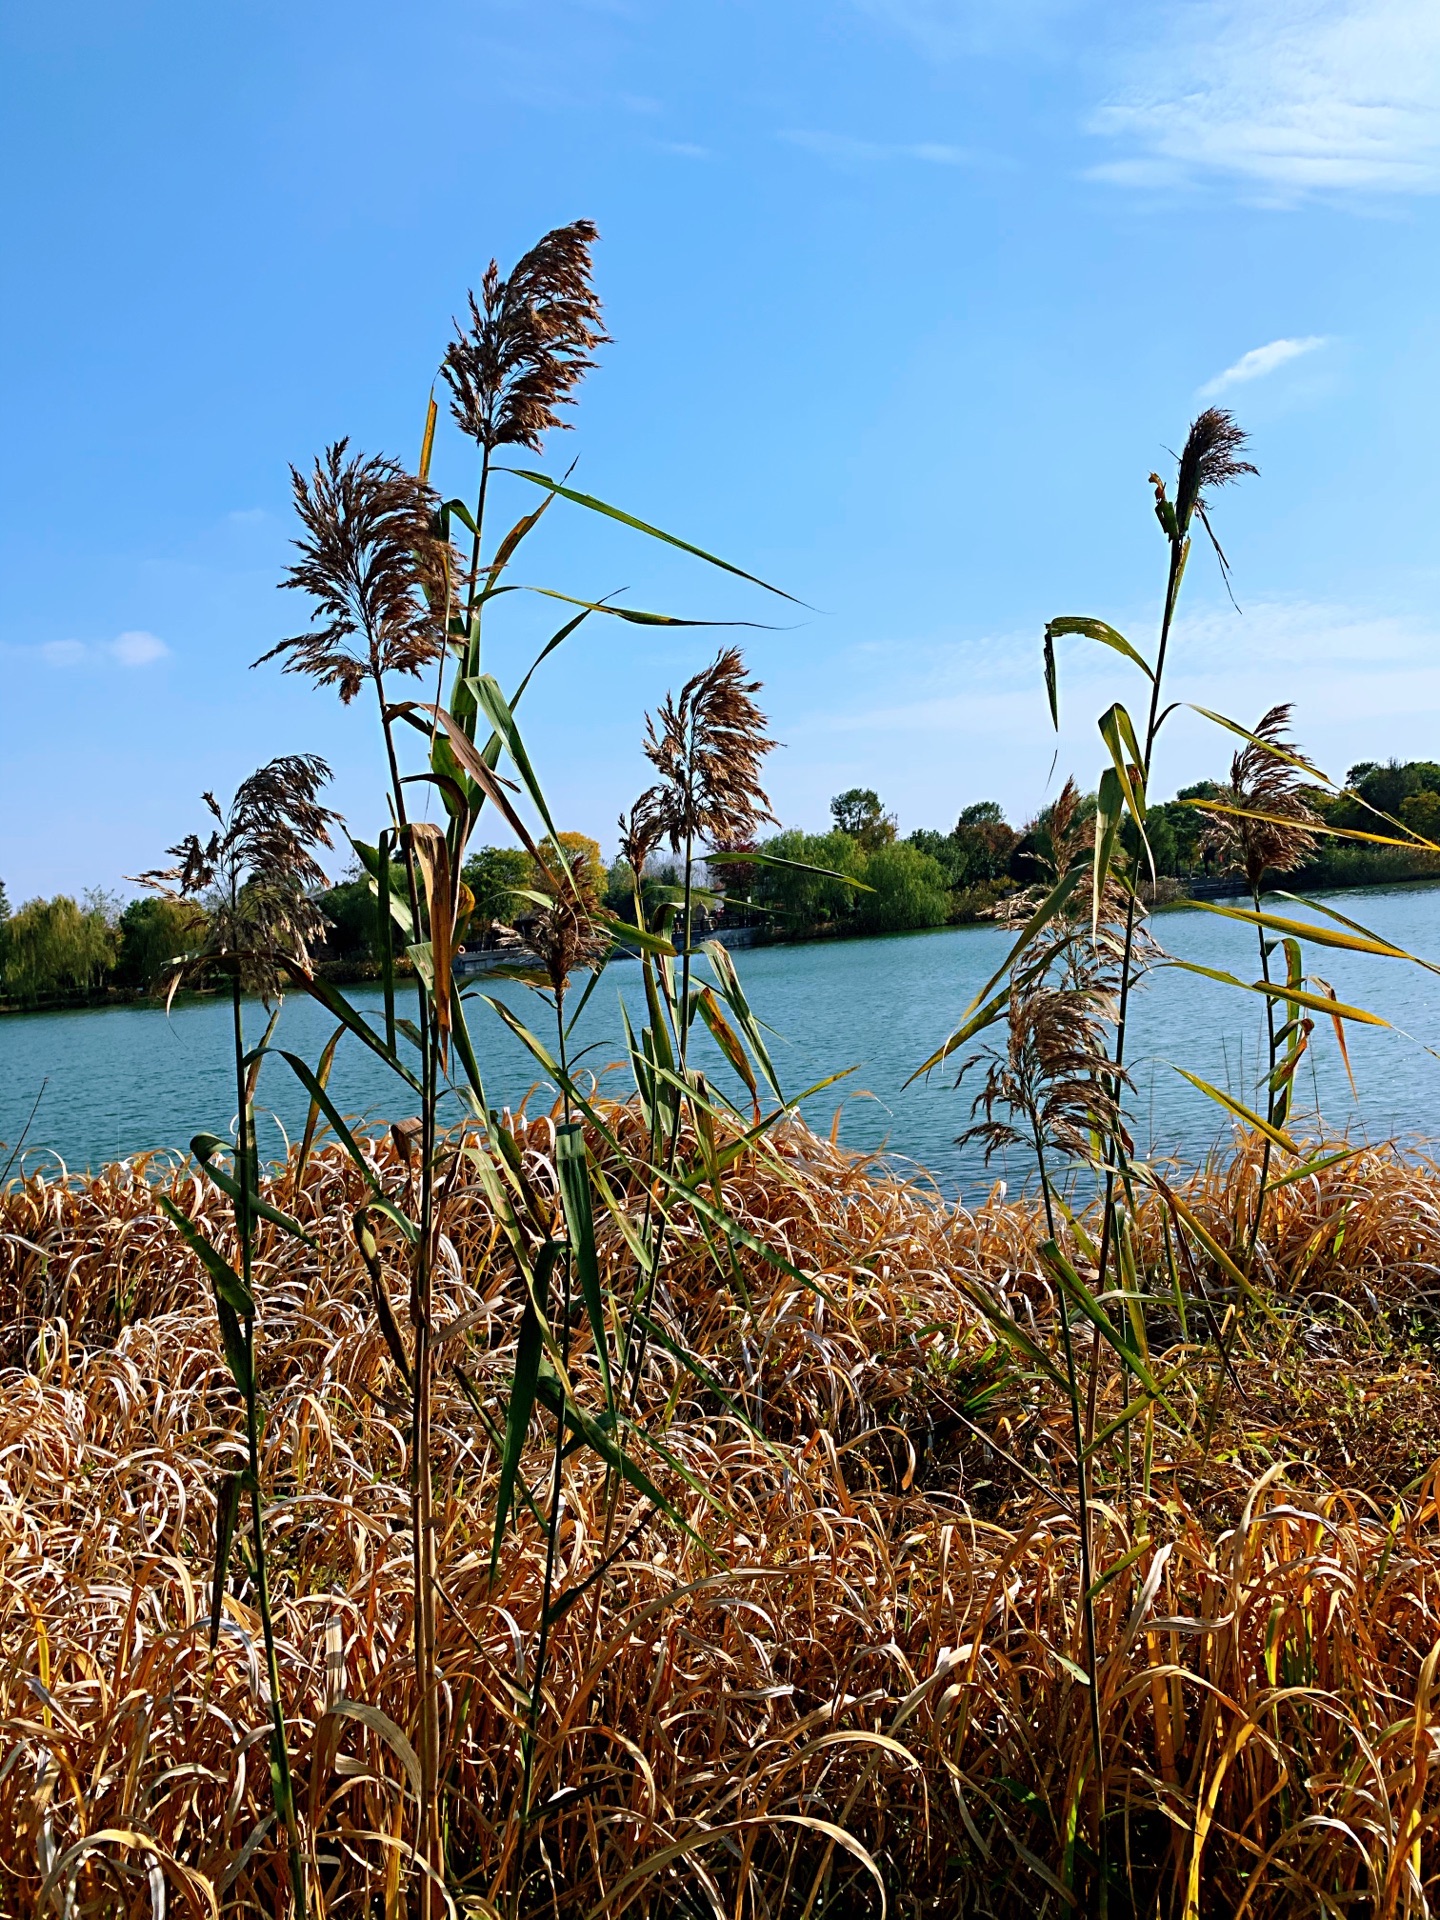
[[[553,1121],[516,1131],[547,1190]],[[390,1139],[367,1150],[399,1192]],[[1256,1160],[1242,1146],[1187,1188],[1221,1236],[1248,1219]],[[215,1194],[157,1171],[227,1244]],[[317,1910],[390,1916],[413,1891],[405,1396],[353,1250],[353,1164],[321,1150],[276,1185],[319,1242],[261,1238],[257,1261],[294,1776]],[[620,1557],[553,1628],[518,1859],[543,1530],[522,1507],[492,1588],[495,1448],[455,1365],[503,1425],[520,1288],[465,1160],[445,1187],[434,1473],[461,1908],[515,1910],[520,1887],[518,1912],[564,1920],[833,1920],[879,1912],[883,1882],[893,1912],[1058,1914],[1062,1884],[1092,1910],[1068,1839],[1091,1793],[1068,1411],[975,1306],[1008,1300],[1050,1342],[1035,1217],[950,1212],[801,1125],[724,1198],[824,1296],[741,1252],[743,1308],[703,1223],[676,1217],[657,1321],[714,1384],[651,1340],[641,1405],[670,1461],[636,1457],[705,1548],[618,1498]],[[1158,1208],[1142,1229],[1154,1281]],[[56,1914],[284,1914],[253,1596],[227,1597],[207,1647],[213,1482],[242,1457],[207,1283],[142,1167],[35,1177],[0,1196],[0,1910],[36,1912],[44,1889]],[[1273,1317],[1246,1317],[1219,1402],[1200,1300],[1156,1283],[1152,1357],[1192,1356],[1175,1419],[1148,1446],[1133,1423],[1129,1471],[1123,1436],[1102,1463],[1098,1563],[1148,1540],[1096,1601],[1112,1912],[1419,1914],[1440,1812],[1440,1173],[1359,1154],[1283,1188],[1265,1246]],[[601,1260],[624,1304],[612,1223]],[[576,1382],[599,1407],[588,1338],[582,1317]],[[1102,1417],[1119,1396],[1102,1356]],[[536,1501],[551,1432],[536,1421]],[[561,1596],[603,1555],[605,1496],[578,1452]]]

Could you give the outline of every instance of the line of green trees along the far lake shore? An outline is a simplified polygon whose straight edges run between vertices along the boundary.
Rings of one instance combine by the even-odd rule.
[[[1361,760],[1346,774],[1346,787],[1354,799],[1309,787],[1306,801],[1329,826],[1382,835],[1390,829],[1379,814],[1440,843],[1440,762]],[[1219,793],[1217,781],[1202,780],[1148,810],[1146,835],[1156,876],[1171,883],[1171,893],[1215,877],[1213,860],[1200,845],[1206,816],[1187,803]],[[1081,804],[1092,810],[1094,797]],[[699,895],[695,931],[705,933],[718,922],[812,939],[820,933],[900,933],[981,920],[1006,893],[1035,879],[1046,851],[1048,808],[1023,826],[1012,826],[996,801],[975,801],[962,808],[948,833],[918,828],[904,839],[897,833],[895,816],[885,812],[870,787],[837,793],[829,812],[826,833],[785,828],[749,849],[785,866],[712,860],[712,891]],[[586,833],[561,833],[559,839],[564,856],[586,868],[593,897],[616,918],[634,920],[634,877],[624,860],[607,868],[599,843]],[[806,872],[812,868],[822,872]],[[1292,876],[1292,885],[1304,891],[1432,876],[1440,876],[1440,854],[1321,839],[1313,860]],[[461,939],[484,948],[524,918],[526,889],[534,889],[541,876],[518,847],[482,847],[467,860],[463,879],[468,914]],[[666,858],[653,860],[641,876],[647,902],[678,885],[680,866]],[[394,893],[403,897],[399,868],[394,872]],[[369,876],[348,877],[321,893],[317,904],[326,918],[321,964],[342,977],[376,972],[382,952],[374,881]],[[150,993],[169,960],[204,945],[204,925],[202,904],[165,899],[123,904],[102,891],[84,893],[79,900],[63,893],[50,900],[25,900],[12,912],[0,881],[0,998],[25,1008]],[[394,924],[390,939],[392,958],[403,968],[405,939]]]

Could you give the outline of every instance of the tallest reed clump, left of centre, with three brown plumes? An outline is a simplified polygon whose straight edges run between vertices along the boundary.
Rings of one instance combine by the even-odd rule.
[[[612,1392],[612,1379],[624,1380],[628,1344],[614,1356],[614,1369],[605,1365],[607,1407],[597,1423],[576,1402],[570,1382],[570,1319],[572,1281],[578,1279],[595,1348],[607,1354],[612,1331],[599,1294],[593,1269],[593,1196],[582,1123],[574,1117],[578,1098],[566,1046],[566,993],[578,970],[597,970],[611,948],[614,927],[607,924],[584,870],[566,856],[563,835],[549,814],[541,783],[520,735],[515,707],[528,685],[524,676],[507,701],[493,676],[482,672],[482,616],[492,601],[516,591],[511,578],[516,555],[559,499],[578,501],[632,528],[639,528],[672,545],[659,528],[634,520],[574,490],[547,480],[543,474],[518,472],[518,478],[545,488],[540,507],[522,513],[493,551],[486,538],[486,513],[493,499],[492,486],[497,468],[493,455],[501,447],[538,449],[541,436],[564,424],[557,413],[568,405],[584,372],[593,365],[591,349],[605,336],[599,324],[599,301],[591,286],[589,223],[574,223],[541,238],[509,276],[492,261],[480,296],[470,296],[470,324],[457,330],[442,361],[442,376],[451,392],[451,415],[461,432],[480,453],[480,480],[474,511],[459,499],[442,501],[430,488],[430,467],[436,449],[438,407],[432,397],[420,472],[411,476],[386,457],[361,457],[338,442],[315,465],[311,476],[294,476],[296,509],[301,522],[300,559],[286,576],[286,586],[301,591],[313,607],[313,626],[271,649],[267,659],[280,659],[290,672],[307,674],[321,687],[338,689],[349,703],[365,685],[372,687],[388,768],[390,828],[374,845],[353,841],[369,870],[376,895],[378,941],[382,956],[390,952],[390,922],[407,941],[407,956],[415,975],[415,1018],[396,1014],[396,981],[390,960],[384,964],[384,1031],[371,1025],[334,987],[317,977],[313,968],[294,966],[292,977],[305,991],[338,1014],[340,1027],[376,1052],[405,1089],[403,1096],[419,1106],[413,1133],[415,1177],[405,1204],[380,1192],[371,1181],[371,1198],[355,1213],[355,1240],[371,1275],[371,1288],[382,1331],[394,1363],[409,1390],[409,1471],[411,1471],[411,1540],[413,1540],[413,1649],[417,1670],[419,1722],[415,1751],[419,1757],[419,1832],[413,1859],[420,1874],[420,1912],[438,1912],[447,1899],[449,1880],[445,1847],[445,1814],[442,1809],[442,1701],[453,1699],[447,1676],[438,1657],[438,1594],[442,1571],[436,1546],[436,1509],[432,1475],[432,1400],[434,1346],[440,1338],[434,1311],[434,1273],[444,1238],[445,1192],[459,1175],[465,1156],[478,1158],[492,1183],[499,1208],[505,1242],[516,1269],[528,1286],[528,1313],[516,1350],[516,1367],[507,1396],[495,1517],[492,1528],[492,1578],[499,1578],[501,1546],[507,1524],[524,1492],[518,1476],[520,1457],[530,1425],[538,1413],[555,1419],[549,1501],[545,1509],[545,1584],[534,1651],[524,1661],[524,1711],[520,1728],[520,1834],[522,1841],[511,1862],[513,1905],[522,1903],[526,1878],[534,1868],[532,1836],[532,1776],[538,1724],[545,1693],[545,1663],[551,1626],[557,1617],[553,1580],[561,1526],[564,1517],[563,1465],[572,1446],[599,1452],[614,1486],[641,1486],[657,1509],[672,1513],[653,1486],[653,1480],[626,1452],[630,1417]],[[455,528],[470,534],[468,568],[453,547]],[[726,564],[701,549],[689,547],[701,559]],[[735,568],[730,568],[735,572]],[[749,576],[747,576],[749,578]],[[576,601],[551,589],[530,589],[549,599],[568,601],[570,612],[561,630],[541,649],[536,666],[566,641],[589,616],[637,620],[647,626],[685,626],[674,616],[639,612],[601,601]],[[444,693],[444,666],[453,662],[451,685]],[[259,662],[257,662],[259,664]],[[420,676],[436,668],[436,697],[430,701],[396,699],[394,682],[401,676]],[[530,672],[536,668],[532,666]],[[745,814],[745,795],[753,778],[730,764],[732,756],[764,751],[747,745],[747,728],[755,732],[756,710],[749,701],[753,687],[743,680],[739,655],[722,655],[716,666],[691,682],[676,708],[664,710],[662,730],[651,737],[651,756],[660,768],[655,789],[660,829],[672,843],[685,847],[685,925],[689,924],[689,895],[695,854],[695,835],[716,829],[722,820]],[[486,732],[482,732],[482,724]],[[409,739],[424,743],[424,764],[405,772],[399,730]],[[515,781],[501,780],[501,758],[511,762]],[[660,764],[664,762],[664,764]],[[749,766],[749,762],[745,762]],[[438,797],[444,822],[417,818],[417,806],[407,789]],[[534,820],[511,801],[518,791]],[[758,791],[758,789],[756,789]],[[762,797],[760,797],[762,804]],[[493,1010],[532,1046],[541,1066],[563,1089],[564,1152],[549,1190],[536,1188],[522,1167],[520,1150],[503,1116],[490,1110],[480,1071],[480,1056],[470,1037],[465,1000],[455,981],[455,950],[461,925],[461,870],[476,822],[486,806],[495,808],[505,826],[530,852],[538,885],[522,889],[528,910],[522,933],[530,952],[543,968],[545,993],[555,1016],[557,1056],[516,1020],[503,1002],[490,1000]],[[422,808],[430,812],[430,806]],[[392,860],[403,870],[403,895],[392,887]],[[636,937],[647,939],[643,929]],[[668,964],[676,948],[664,935],[649,937],[651,952]],[[689,1008],[689,947],[682,950],[684,983],[680,998],[666,975],[666,995],[672,1027],[678,1041],[680,1087],[685,1083],[685,1033],[693,1018]],[[486,998],[486,996],[482,996]],[[708,995],[714,1004],[714,995]],[[572,1016],[574,1018],[574,1016]],[[415,1064],[411,1064],[415,1062]],[[324,1091],[323,1077],[292,1060],[311,1092],[313,1114],[323,1114],[336,1137],[346,1142],[357,1165],[365,1152],[336,1114]],[[419,1071],[417,1071],[419,1068]],[[442,1102],[463,1098],[472,1133],[455,1131],[442,1116]],[[691,1089],[693,1102],[693,1089]],[[588,1110],[589,1112],[589,1110]],[[684,1169],[676,1167],[680,1106],[672,1108],[672,1127],[664,1179],[676,1183]],[[660,1200],[659,1219],[666,1204]],[[653,1223],[651,1223],[653,1225]],[[388,1304],[384,1267],[386,1240],[397,1233],[401,1258],[409,1263],[409,1346]],[[659,1261],[664,1229],[659,1227],[649,1252],[653,1267]],[[551,1286],[559,1283],[559,1298]],[[643,1288],[636,1290],[643,1298]],[[626,1329],[628,1342],[630,1329]],[[482,1419],[484,1409],[476,1405]]]

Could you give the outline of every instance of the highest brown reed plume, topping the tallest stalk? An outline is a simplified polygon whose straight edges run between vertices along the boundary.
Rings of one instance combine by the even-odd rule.
[[[486,455],[503,445],[538,451],[543,434],[568,426],[557,409],[574,405],[593,349],[609,342],[589,278],[597,238],[593,221],[555,227],[509,275],[492,259],[480,300],[467,296],[468,330],[457,323],[440,372],[455,422]]]

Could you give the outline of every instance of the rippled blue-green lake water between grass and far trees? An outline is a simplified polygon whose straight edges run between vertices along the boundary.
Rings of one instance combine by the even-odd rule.
[[[1300,914],[1284,902],[1271,904]],[[1356,889],[1327,897],[1327,904],[1409,952],[1440,958],[1440,887]],[[1183,910],[1158,916],[1154,931],[1179,958],[1256,977],[1250,927]],[[995,927],[947,927],[889,939],[751,948],[737,952],[735,962],[755,1012],[774,1029],[772,1058],[787,1094],[839,1068],[856,1068],[808,1104],[812,1125],[828,1129],[839,1112],[843,1142],[887,1148],[927,1167],[947,1192],[973,1198],[996,1177],[1023,1177],[1023,1165],[1006,1167],[996,1158],[987,1169],[973,1146],[954,1144],[970,1117],[970,1083],[956,1092],[948,1066],[927,1083],[906,1087],[904,1081],[1000,964],[1006,941],[1008,935]],[[1430,1052],[1440,1048],[1440,977],[1400,960],[1309,952],[1313,970],[1342,1000],[1379,1012],[1392,1025],[1348,1029],[1356,1100],[1331,1025],[1321,1021],[1300,1075],[1298,1108],[1321,1112],[1331,1127],[1350,1127],[1356,1137],[1440,1135],[1440,1060]],[[708,977],[705,964],[697,973]],[[482,979],[476,991],[503,998],[549,1043],[551,1016],[524,985]],[[348,993],[369,1018],[380,1020],[378,989]],[[624,1058],[620,1000],[639,1029],[645,1016],[636,962],[607,968],[580,1020],[574,1046],[589,1048],[586,1066],[597,1073]],[[551,1089],[493,1010],[474,998],[467,1010],[490,1104],[518,1106],[526,1096],[549,1104]],[[184,1148],[202,1129],[228,1131],[234,1114],[228,1018],[228,1004],[213,1000],[177,1006],[169,1016],[152,1006],[6,1016],[0,1020],[0,1140],[8,1144],[0,1169],[36,1094],[27,1165],[56,1156],[73,1169],[94,1167],[144,1148]],[[246,1018],[255,1043],[265,1025],[259,1002],[248,1004]],[[1175,970],[1146,983],[1135,1002],[1129,1050],[1137,1148],[1198,1158],[1225,1137],[1223,1116],[1175,1068],[1183,1064],[1256,1104],[1261,1021],[1258,995]],[[332,1031],[334,1021],[323,1008],[292,995],[280,1014],[276,1044],[315,1062]],[[701,1035],[695,1060],[716,1083],[739,1092],[708,1035]],[[626,1075],[609,1073],[603,1085],[624,1092]],[[407,1112],[397,1100],[403,1087],[353,1037],[340,1043],[330,1092],[346,1114],[390,1119]],[[259,1106],[265,1112],[261,1144],[278,1154],[284,1137],[298,1137],[307,1110],[307,1096],[284,1062],[267,1062]]]

